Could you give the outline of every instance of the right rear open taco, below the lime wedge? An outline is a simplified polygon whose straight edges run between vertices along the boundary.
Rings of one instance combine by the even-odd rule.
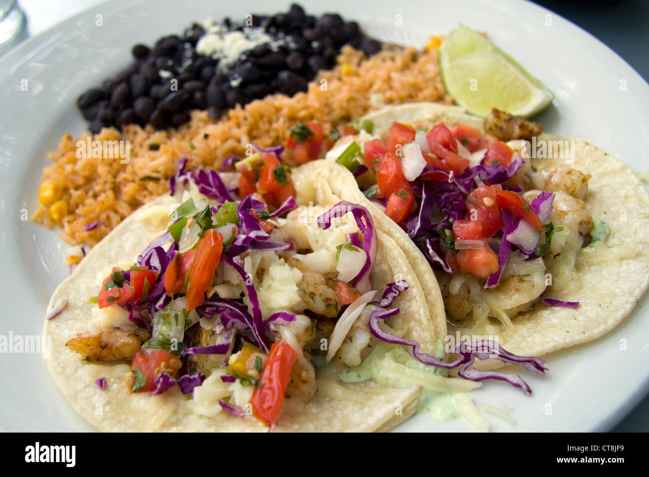
[[[441,291],[447,342],[542,356],[606,334],[646,291],[649,196],[593,145],[435,103],[352,126],[327,155],[330,187],[373,211],[426,297]]]

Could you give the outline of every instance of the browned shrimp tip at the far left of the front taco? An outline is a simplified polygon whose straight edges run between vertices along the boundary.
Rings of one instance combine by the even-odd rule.
[[[133,355],[149,339],[144,328],[125,330],[115,326],[105,328],[97,335],[90,332],[79,333],[67,341],[66,346],[78,352],[86,361],[119,363],[132,361]]]

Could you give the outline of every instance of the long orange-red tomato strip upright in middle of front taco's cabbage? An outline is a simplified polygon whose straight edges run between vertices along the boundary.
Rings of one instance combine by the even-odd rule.
[[[214,282],[216,267],[221,262],[223,236],[210,228],[196,246],[196,256],[190,269],[190,286],[187,291],[187,310],[191,311],[205,301],[205,292]]]

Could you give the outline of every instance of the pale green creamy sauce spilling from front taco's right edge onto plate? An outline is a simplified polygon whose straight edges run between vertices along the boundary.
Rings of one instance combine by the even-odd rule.
[[[442,360],[444,358],[444,347],[440,340],[435,342],[434,347],[428,350],[428,354]],[[404,374],[395,373],[389,369],[389,365],[398,363],[411,369],[424,371],[424,373],[435,374],[447,377],[447,370],[435,366],[428,366],[415,360],[406,350],[397,345],[380,343],[373,352],[363,360],[358,367],[345,367],[339,371],[338,377],[345,382],[363,382],[370,379],[379,384],[389,386],[410,386]],[[419,397],[419,412],[432,416],[437,421],[449,421],[460,417],[459,411],[453,404],[452,393],[443,393],[423,389]]]

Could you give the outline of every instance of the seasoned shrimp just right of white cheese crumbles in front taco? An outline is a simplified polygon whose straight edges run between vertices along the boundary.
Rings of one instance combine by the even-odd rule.
[[[336,317],[341,308],[336,293],[337,274],[316,273],[297,258],[288,258],[286,263],[289,267],[297,268],[302,272],[302,279],[298,282],[297,287],[306,308],[319,315],[329,318]]]

